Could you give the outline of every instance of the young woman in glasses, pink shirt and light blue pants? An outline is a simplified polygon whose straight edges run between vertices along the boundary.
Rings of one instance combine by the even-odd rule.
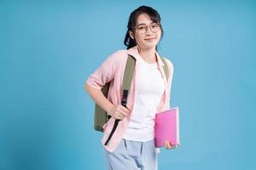
[[[103,126],[102,138],[108,169],[155,170],[158,165],[154,117],[170,108],[173,66],[166,59],[169,71],[166,79],[164,64],[156,51],[163,28],[160,14],[154,8],[141,6],[135,9],[127,27],[124,41],[127,48],[111,54],[87,79],[85,89],[111,116]],[[136,65],[125,107],[121,105],[121,97],[128,54],[136,59]],[[107,82],[111,82],[108,99],[101,91]],[[106,144],[115,120],[120,120],[119,124]],[[172,149],[169,141],[165,148]]]

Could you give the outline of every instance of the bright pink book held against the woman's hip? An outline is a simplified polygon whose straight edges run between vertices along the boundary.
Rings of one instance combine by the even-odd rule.
[[[171,144],[177,147],[180,144],[178,107],[157,113],[154,121],[155,147],[163,147],[166,140],[171,141]]]

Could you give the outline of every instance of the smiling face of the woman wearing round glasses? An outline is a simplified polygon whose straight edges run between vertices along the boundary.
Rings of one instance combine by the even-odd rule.
[[[140,14],[137,17],[136,30],[130,31],[130,36],[142,49],[155,48],[161,37],[160,26],[150,20],[148,14]]]

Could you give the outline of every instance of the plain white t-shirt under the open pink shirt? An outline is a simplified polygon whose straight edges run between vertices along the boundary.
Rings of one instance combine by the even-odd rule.
[[[124,139],[146,142],[154,139],[154,117],[157,105],[165,91],[164,80],[157,68],[157,63],[148,64],[142,58],[137,75],[137,97],[131,121],[125,132]]]

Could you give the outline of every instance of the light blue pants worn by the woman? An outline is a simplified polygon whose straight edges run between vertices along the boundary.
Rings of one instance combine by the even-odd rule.
[[[122,139],[112,153],[105,150],[108,170],[157,170],[154,140],[136,142]]]

